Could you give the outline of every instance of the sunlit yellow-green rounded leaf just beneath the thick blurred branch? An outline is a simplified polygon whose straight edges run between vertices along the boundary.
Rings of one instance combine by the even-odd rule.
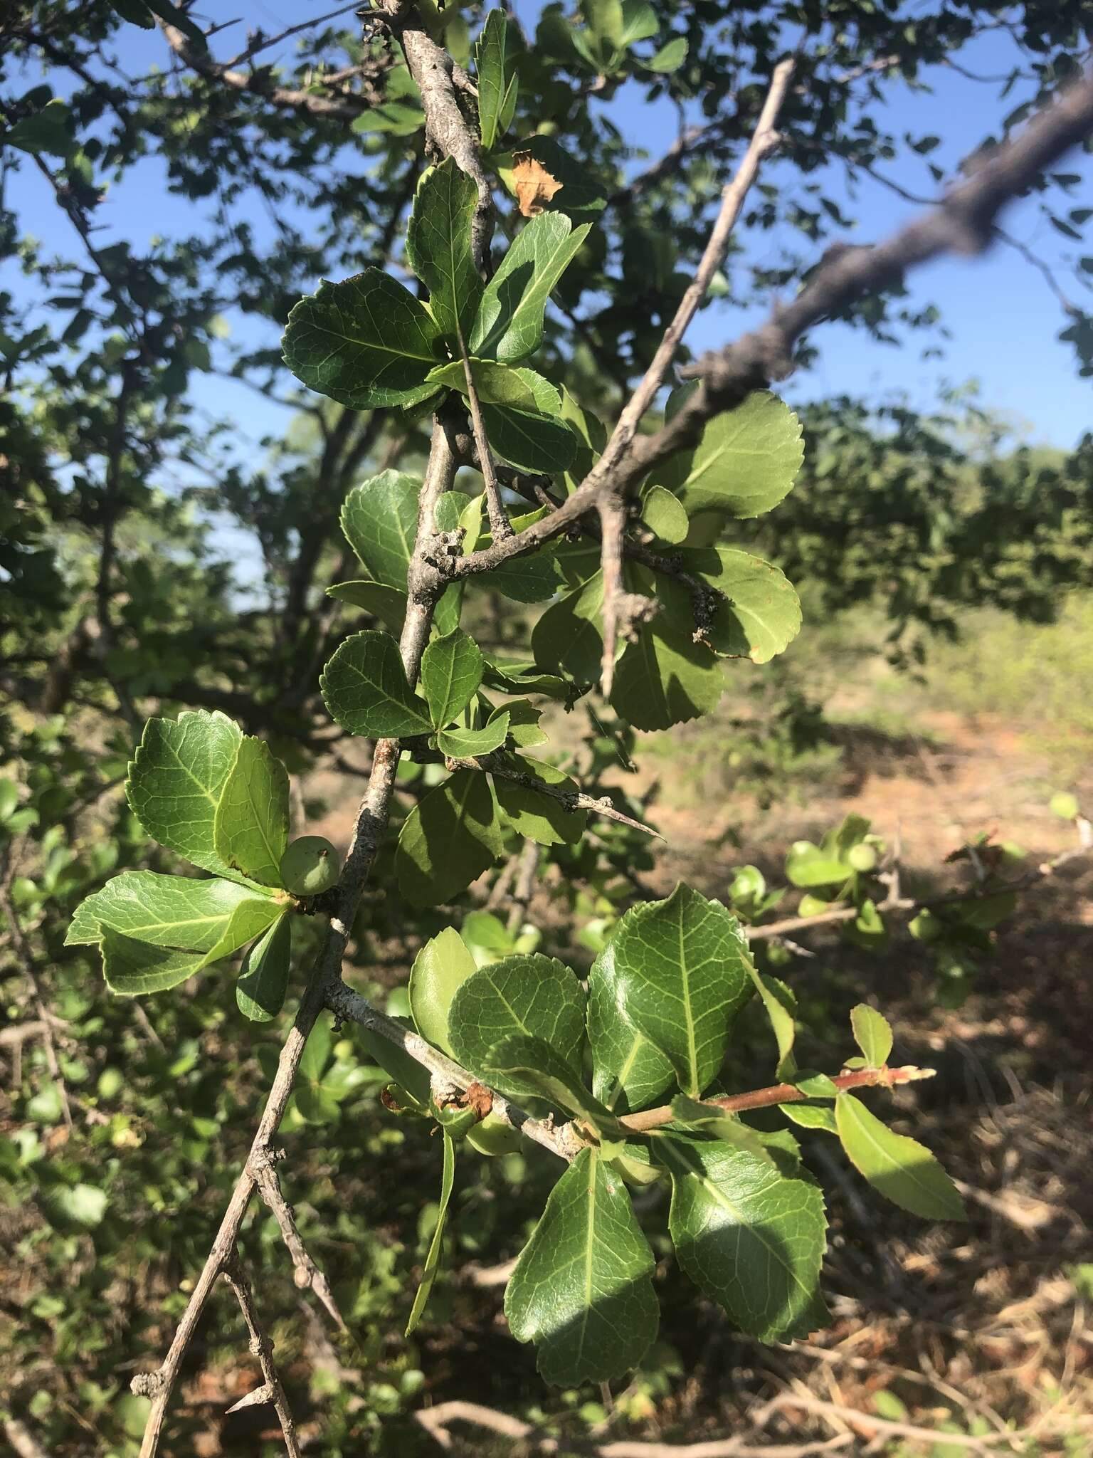
[[[669,418],[694,389],[673,392]],[[736,410],[714,416],[698,445],[672,456],[653,480],[675,491],[689,515],[761,516],[790,491],[803,459],[797,417],[775,395],[755,391]]]

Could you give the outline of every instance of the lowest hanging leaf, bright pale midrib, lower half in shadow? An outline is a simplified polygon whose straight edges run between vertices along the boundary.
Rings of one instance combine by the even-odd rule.
[[[581,1149],[504,1293],[509,1328],[538,1344],[548,1382],[608,1382],[641,1362],[657,1333],[653,1264],[622,1180]]]

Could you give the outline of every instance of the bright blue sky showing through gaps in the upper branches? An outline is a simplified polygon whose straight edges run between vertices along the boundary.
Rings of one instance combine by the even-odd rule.
[[[208,4],[201,9],[213,13]],[[242,23],[214,36],[214,52],[226,58],[243,47],[248,26],[261,26],[273,34],[299,22],[307,9],[318,16],[334,6],[331,0],[306,0],[306,4],[300,0],[238,0],[230,15],[239,16]],[[525,25],[532,26],[541,4],[517,0],[513,9]],[[289,60],[293,45],[291,39],[286,41],[278,50],[264,52],[262,58],[270,60],[280,52]],[[127,69],[136,74],[150,63],[166,66],[169,60],[157,34],[140,32],[134,26],[128,28],[122,54]],[[1014,61],[1013,42],[1003,32],[984,36],[962,52],[960,61],[973,71],[1004,73]],[[995,130],[1001,117],[1023,96],[1020,83],[1007,99],[1000,99],[998,86],[975,83],[949,69],[934,69],[927,79],[930,93],[912,92],[896,83],[889,92],[885,121],[896,133],[940,134],[943,143],[930,160],[947,171]],[[57,77],[52,80],[55,90],[63,93],[64,83]],[[624,137],[651,156],[659,155],[676,131],[675,109],[667,102],[647,105],[634,87],[624,87],[615,98],[611,115]],[[641,162],[635,160],[635,168],[640,166]],[[1067,162],[1065,171],[1080,172],[1084,179],[1068,206],[1090,203],[1093,159],[1077,156]],[[925,160],[914,155],[890,163],[888,174],[912,192],[930,195],[936,190]],[[772,162],[765,175],[777,181],[778,163]],[[832,182],[829,191],[839,197],[834,172]],[[17,179],[15,195],[26,206],[28,226],[48,245],[70,252],[67,223],[29,168]],[[915,206],[873,182],[867,182],[848,206],[858,217],[857,229],[847,235],[854,242],[883,238],[917,211]],[[109,194],[99,219],[106,225],[102,241],[127,236],[143,246],[156,232],[189,227],[192,210],[191,204],[166,194],[157,163],[149,160]],[[1016,238],[1059,268],[1064,287],[1076,293],[1078,302],[1089,302],[1067,267],[1068,258],[1083,252],[1081,245],[1059,236],[1041,214],[1035,198],[1014,204],[1004,222]],[[769,239],[759,238],[756,246],[769,246]],[[1089,248],[1093,252],[1093,243]],[[10,281],[9,276],[9,286]],[[909,302],[937,303],[952,331],[952,340],[941,341],[943,359],[921,357],[925,335],[912,335],[906,348],[896,350],[869,340],[858,330],[823,325],[813,337],[820,350],[819,360],[813,369],[783,386],[787,398],[847,392],[880,401],[899,394],[928,408],[946,385],[976,381],[981,402],[1013,421],[1016,432],[1026,439],[1068,448],[1093,429],[1093,382],[1077,378],[1070,347],[1057,340],[1064,322],[1059,306],[1043,278],[1014,251],[995,246],[984,258],[943,260],[918,270],[909,283]],[[714,305],[695,321],[689,341],[697,347],[721,344],[758,322],[764,313],[765,309],[740,311]],[[258,401],[242,386],[227,386],[219,379],[200,381],[195,397],[217,414],[226,405],[233,408],[238,398],[238,410],[251,437],[283,423],[274,413],[275,407]]]

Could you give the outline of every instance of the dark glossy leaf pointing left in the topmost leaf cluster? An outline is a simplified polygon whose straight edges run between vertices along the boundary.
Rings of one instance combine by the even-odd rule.
[[[426,399],[440,354],[430,312],[379,268],[300,299],[281,346],[297,379],[351,410]]]

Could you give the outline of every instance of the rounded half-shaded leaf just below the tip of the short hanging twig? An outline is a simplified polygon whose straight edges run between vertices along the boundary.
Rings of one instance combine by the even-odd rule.
[[[654,618],[618,660],[611,706],[635,729],[670,729],[713,713],[723,690],[721,665],[710,649]]]

